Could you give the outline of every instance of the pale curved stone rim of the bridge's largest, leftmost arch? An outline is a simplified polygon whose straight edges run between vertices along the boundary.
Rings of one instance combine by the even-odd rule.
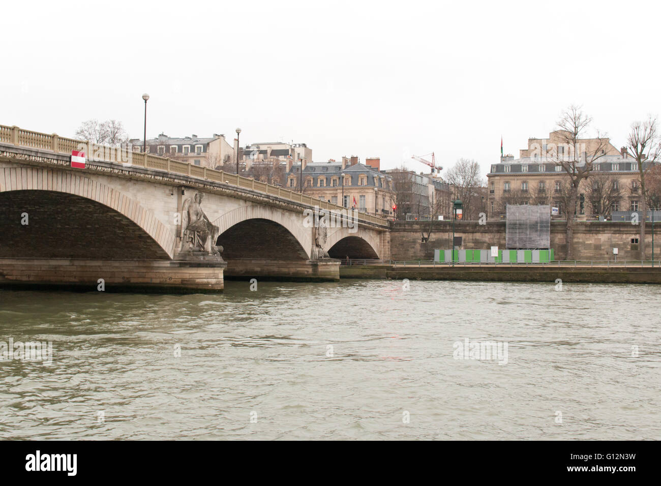
[[[32,193],[32,191],[35,191],[35,193]],[[83,208],[83,206],[80,206],[81,202],[91,201],[106,207],[106,210],[100,212],[100,214],[93,213],[94,216],[104,218],[103,220],[106,222],[114,222],[118,225],[117,227],[126,228],[128,231],[132,231],[128,227],[130,223],[126,222],[126,220],[118,220],[118,214],[121,214],[124,218],[134,223],[134,225],[137,225],[141,229],[141,232],[132,232],[137,233],[135,236],[139,239],[153,241],[153,244],[150,243],[149,245],[157,253],[154,255],[154,259],[173,258],[175,247],[175,234],[173,231],[161,223],[153,212],[141,206],[134,198],[122,194],[119,190],[73,171],[58,171],[40,167],[5,167],[3,170],[0,169],[0,202],[3,202],[5,199],[9,201],[10,198],[7,197],[9,194],[6,193],[12,192],[11,200],[13,200],[14,205],[19,204],[19,201],[22,201],[23,204],[30,205],[36,202],[37,191],[40,192],[39,196],[42,197],[46,204],[49,201],[66,201],[67,204],[70,203],[64,209],[58,206],[46,207],[49,211],[48,214],[50,214],[50,216],[46,216],[47,218],[53,218],[54,216],[71,216],[75,218],[73,215],[67,215],[65,210],[68,209],[75,212],[77,209],[80,210]],[[5,197],[3,197],[3,194],[6,194]],[[79,206],[76,206],[77,204]],[[36,208],[38,206],[34,205],[34,207]],[[91,209],[93,207],[98,208],[96,204],[91,204],[85,209],[87,212],[90,212],[93,211]],[[85,210],[82,212],[84,213]],[[13,218],[15,217],[13,215]],[[46,222],[46,219],[44,219],[44,222]],[[79,225],[84,223],[86,222],[81,220]],[[113,227],[110,228],[110,231],[112,230]],[[75,235],[72,235],[72,237],[75,237]],[[100,255],[100,257],[103,258],[104,255]]]

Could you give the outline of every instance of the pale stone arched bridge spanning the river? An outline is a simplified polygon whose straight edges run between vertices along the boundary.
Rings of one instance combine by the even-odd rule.
[[[388,222],[286,188],[0,125],[0,284],[217,291],[223,278],[337,280],[339,260],[388,259]],[[182,258],[181,211],[219,227],[224,261]],[[336,215],[315,225],[315,210]],[[334,218],[335,219],[335,218]],[[328,257],[325,257],[327,253]]]

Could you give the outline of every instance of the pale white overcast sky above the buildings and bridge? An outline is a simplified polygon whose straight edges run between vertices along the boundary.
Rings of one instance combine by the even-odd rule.
[[[315,162],[434,151],[483,172],[582,104],[625,144],[661,112],[658,3],[5,2],[0,124],[307,143]],[[445,171],[442,172],[442,175]]]

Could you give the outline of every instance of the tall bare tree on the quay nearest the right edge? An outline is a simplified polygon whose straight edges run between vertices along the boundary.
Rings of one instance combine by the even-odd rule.
[[[641,210],[639,224],[641,233],[639,237],[639,250],[641,261],[645,259],[645,221],[647,219],[647,195],[645,175],[650,167],[656,165],[656,160],[661,155],[661,138],[656,126],[656,118],[648,116],[644,122],[633,122],[631,132],[627,138],[627,149],[638,164],[638,173],[641,182]]]

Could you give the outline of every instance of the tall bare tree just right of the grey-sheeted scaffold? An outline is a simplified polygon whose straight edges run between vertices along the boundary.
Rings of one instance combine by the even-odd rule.
[[[580,143],[580,139],[588,126],[592,123],[592,118],[584,114],[580,106],[571,105],[561,113],[560,120],[557,122],[559,128],[559,138],[561,144],[566,150],[557,151],[553,155],[555,165],[563,168],[569,176],[569,200],[567,207],[566,222],[566,259],[572,260],[574,257],[573,236],[574,220],[576,219],[576,203],[578,202],[578,187],[583,179],[590,176],[592,167],[598,159],[605,155],[607,139],[600,132],[597,133],[597,143],[592,146],[588,152],[588,147]]]

